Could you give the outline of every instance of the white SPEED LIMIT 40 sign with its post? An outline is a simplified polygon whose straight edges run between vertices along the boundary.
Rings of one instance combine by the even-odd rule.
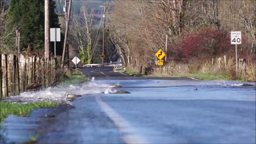
[[[236,45],[236,77],[237,77],[237,44],[242,44],[242,33],[241,31],[230,32],[231,44]]]

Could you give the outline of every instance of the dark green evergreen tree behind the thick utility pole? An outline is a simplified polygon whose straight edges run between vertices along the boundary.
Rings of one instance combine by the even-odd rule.
[[[58,16],[54,13],[54,1],[51,1],[50,8],[50,26],[59,27]],[[11,0],[5,27],[11,29],[15,26],[20,30],[21,50],[28,45],[32,50],[44,49],[44,1]],[[5,40],[14,45],[15,34]]]

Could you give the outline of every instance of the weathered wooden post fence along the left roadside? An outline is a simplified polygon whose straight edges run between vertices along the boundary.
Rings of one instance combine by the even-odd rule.
[[[0,54],[0,98],[28,89],[49,87],[55,81],[55,60]]]

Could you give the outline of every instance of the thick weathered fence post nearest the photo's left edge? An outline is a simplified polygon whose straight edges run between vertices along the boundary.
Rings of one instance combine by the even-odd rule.
[[[7,55],[2,54],[2,98],[8,97]]]

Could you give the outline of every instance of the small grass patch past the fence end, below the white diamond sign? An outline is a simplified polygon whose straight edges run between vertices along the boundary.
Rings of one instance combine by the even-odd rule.
[[[63,76],[60,79],[59,85],[69,85],[69,84],[76,84],[88,81],[88,79],[81,73],[81,71],[73,70],[70,76]]]

